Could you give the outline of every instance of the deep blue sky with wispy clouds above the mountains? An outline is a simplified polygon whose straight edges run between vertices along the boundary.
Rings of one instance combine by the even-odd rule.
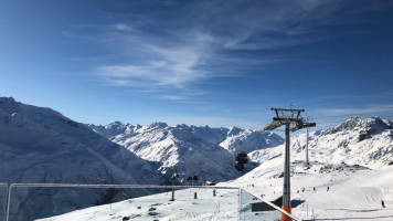
[[[3,1],[0,96],[82,123],[392,118],[393,2]]]

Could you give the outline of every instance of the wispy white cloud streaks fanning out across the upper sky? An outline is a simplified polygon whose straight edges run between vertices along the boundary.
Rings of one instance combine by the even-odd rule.
[[[348,13],[390,7],[380,1],[371,3],[378,7],[371,7],[363,1],[339,0],[162,2],[164,10],[159,12],[132,13],[130,19],[119,18],[115,24],[82,25],[78,33],[66,34],[85,38],[95,29],[94,38],[86,39],[119,55],[117,63],[102,64],[94,70],[110,85],[140,91],[176,88],[177,95],[160,97],[180,99],[192,97],[182,95],[183,90],[212,77],[246,75],[290,60],[253,51],[337,38],[338,34],[326,32],[326,27],[348,22],[348,17],[343,17],[348,4],[357,6]],[[89,31],[81,34],[83,29]],[[233,53],[236,51],[243,53]]]

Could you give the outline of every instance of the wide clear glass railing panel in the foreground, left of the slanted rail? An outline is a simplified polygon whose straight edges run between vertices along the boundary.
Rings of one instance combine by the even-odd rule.
[[[177,189],[171,199],[171,189],[13,187],[9,221],[238,218],[238,189]]]

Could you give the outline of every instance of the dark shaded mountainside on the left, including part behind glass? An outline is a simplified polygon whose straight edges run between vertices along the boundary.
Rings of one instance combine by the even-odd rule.
[[[0,182],[160,182],[150,162],[86,125],[50,108],[25,105],[8,97],[0,97]],[[45,217],[47,211],[63,213],[103,201],[103,196],[110,197],[100,190],[85,191],[84,200],[67,204],[68,193],[47,188],[31,192],[24,189],[25,198],[12,199],[20,207],[13,208],[11,220],[32,220]],[[73,197],[75,194],[78,191]]]

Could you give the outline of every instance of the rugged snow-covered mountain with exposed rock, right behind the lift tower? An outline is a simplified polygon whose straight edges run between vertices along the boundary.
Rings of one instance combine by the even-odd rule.
[[[291,159],[304,160],[306,134],[291,137]],[[248,156],[257,162],[282,158],[284,145],[262,149]],[[334,128],[309,135],[309,159],[318,162],[361,165],[381,168],[393,161],[393,122],[373,117],[353,117]]]

